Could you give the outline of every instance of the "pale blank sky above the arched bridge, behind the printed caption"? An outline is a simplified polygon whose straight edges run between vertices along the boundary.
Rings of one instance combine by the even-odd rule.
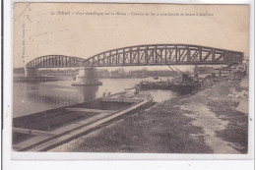
[[[15,3],[13,21],[14,68],[43,55],[87,59],[114,48],[155,43],[203,45],[249,56],[248,5]]]

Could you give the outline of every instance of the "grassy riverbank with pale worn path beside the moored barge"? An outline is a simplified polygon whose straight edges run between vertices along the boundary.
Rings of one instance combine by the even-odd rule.
[[[246,153],[248,96],[220,83],[178,96],[50,151]],[[229,95],[228,95],[229,94]]]

